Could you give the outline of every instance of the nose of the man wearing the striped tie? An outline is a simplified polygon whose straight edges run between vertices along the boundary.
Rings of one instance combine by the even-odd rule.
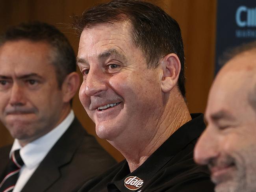
[[[9,103],[12,106],[17,105],[25,105],[26,98],[24,96],[24,90],[22,86],[18,85],[17,83],[13,83],[13,86],[11,88],[11,96],[9,99]]]

